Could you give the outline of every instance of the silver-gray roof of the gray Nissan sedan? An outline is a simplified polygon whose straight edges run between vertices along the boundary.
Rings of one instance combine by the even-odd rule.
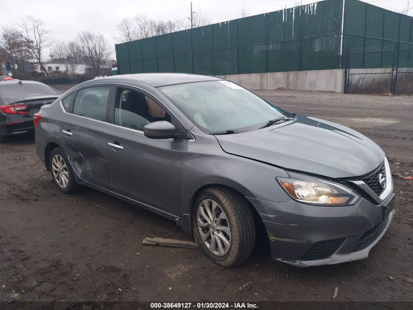
[[[121,74],[112,75],[98,79],[97,81],[102,81],[105,79],[129,79],[147,83],[152,87],[192,83],[192,82],[203,82],[203,81],[217,81],[221,78],[210,75],[198,75],[198,74],[187,74],[187,73],[136,73],[136,74]]]

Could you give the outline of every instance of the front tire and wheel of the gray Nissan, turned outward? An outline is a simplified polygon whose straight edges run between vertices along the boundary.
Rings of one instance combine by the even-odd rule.
[[[211,218],[215,219],[214,225]],[[192,229],[199,249],[221,266],[244,262],[254,249],[256,228],[248,202],[238,192],[227,188],[207,188],[196,196]]]

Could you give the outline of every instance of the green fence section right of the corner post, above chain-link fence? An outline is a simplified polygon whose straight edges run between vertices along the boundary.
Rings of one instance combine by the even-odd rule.
[[[394,52],[413,42],[413,17],[358,0],[345,4],[344,51],[363,51],[351,55],[350,68],[413,67],[412,50]]]

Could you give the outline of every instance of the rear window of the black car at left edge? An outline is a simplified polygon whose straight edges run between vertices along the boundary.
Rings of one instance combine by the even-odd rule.
[[[10,83],[10,82],[2,82]],[[60,95],[54,89],[44,84],[8,84],[1,85],[0,97],[6,103],[11,103],[32,96]]]

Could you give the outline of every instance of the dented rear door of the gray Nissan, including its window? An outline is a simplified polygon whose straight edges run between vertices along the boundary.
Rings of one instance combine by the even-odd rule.
[[[83,181],[109,189],[105,160],[110,85],[83,88],[62,99],[60,137],[68,159]]]

